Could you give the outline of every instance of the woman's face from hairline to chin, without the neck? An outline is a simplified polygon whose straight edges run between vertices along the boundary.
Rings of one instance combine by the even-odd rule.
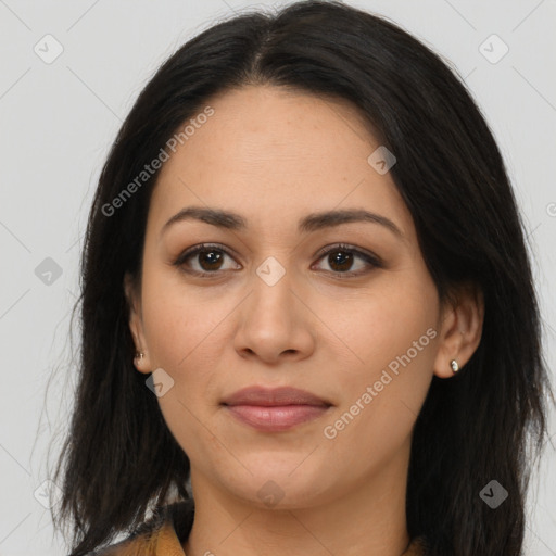
[[[159,369],[194,495],[309,507],[404,480],[432,375],[451,372],[412,216],[368,162],[379,143],[342,101],[248,87],[207,104],[153,191],[140,291],[126,282],[136,365]],[[225,404],[253,386],[316,400]]]

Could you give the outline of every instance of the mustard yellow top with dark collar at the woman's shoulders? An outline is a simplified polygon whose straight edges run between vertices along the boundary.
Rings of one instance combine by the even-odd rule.
[[[91,556],[186,556],[182,544],[193,525],[192,501],[165,506],[129,538]],[[401,556],[426,556],[422,538],[413,540]]]

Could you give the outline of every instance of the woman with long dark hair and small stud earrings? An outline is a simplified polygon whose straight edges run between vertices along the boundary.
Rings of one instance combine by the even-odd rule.
[[[90,213],[72,556],[521,554],[552,396],[523,238],[393,24],[309,1],[190,40]]]

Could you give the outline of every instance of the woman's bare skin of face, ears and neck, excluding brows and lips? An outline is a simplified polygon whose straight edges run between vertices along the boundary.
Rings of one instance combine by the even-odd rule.
[[[214,115],[159,177],[141,285],[125,280],[130,329],[146,354],[136,367],[162,368],[174,380],[159,403],[191,462],[195,520],[184,549],[400,556],[409,541],[412,430],[433,375],[448,379],[450,362],[463,367],[477,349],[482,299],[462,289],[456,303],[440,303],[410,213],[390,174],[367,162],[379,143],[350,103],[250,86],[207,104]],[[192,205],[239,213],[248,227],[189,219],[161,235]],[[332,208],[377,213],[403,238],[366,222],[298,230],[300,218]],[[181,269],[173,265],[203,242],[222,243],[230,255],[218,252],[219,267],[202,255]],[[375,254],[382,266],[354,254],[348,269],[362,274],[342,278],[333,258],[315,256],[339,242]],[[269,256],[286,271],[274,286],[256,274]],[[220,269],[203,278],[187,268]],[[428,345],[326,438],[324,428],[428,329],[435,332]],[[293,386],[332,406],[288,431],[261,432],[220,405],[251,384]],[[273,506],[257,494],[269,480],[282,496]]]

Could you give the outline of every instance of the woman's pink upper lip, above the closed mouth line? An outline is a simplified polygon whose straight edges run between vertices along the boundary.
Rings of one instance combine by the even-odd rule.
[[[265,388],[248,387],[238,390],[223,401],[224,405],[331,405],[326,400],[318,397],[306,390],[291,387]]]

